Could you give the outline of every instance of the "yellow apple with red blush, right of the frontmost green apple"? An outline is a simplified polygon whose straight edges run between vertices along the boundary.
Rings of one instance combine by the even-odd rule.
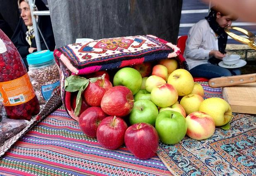
[[[187,135],[196,140],[207,139],[213,136],[215,123],[213,118],[204,112],[196,111],[186,117],[188,124]]]

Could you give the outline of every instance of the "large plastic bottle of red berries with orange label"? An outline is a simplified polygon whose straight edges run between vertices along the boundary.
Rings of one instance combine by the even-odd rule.
[[[18,50],[0,30],[0,94],[7,117],[30,120],[39,113],[39,102]]]

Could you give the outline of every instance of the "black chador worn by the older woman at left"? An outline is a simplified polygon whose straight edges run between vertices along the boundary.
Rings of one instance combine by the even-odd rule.
[[[46,5],[41,0],[36,0],[35,5],[39,11],[48,10]],[[51,17],[50,16],[39,16],[38,26],[43,34],[44,39],[46,40],[49,50],[53,51],[55,48],[55,40],[54,40],[54,36],[53,36],[53,28],[51,25]],[[30,45],[26,40],[27,30],[28,30],[27,26],[25,25],[23,19],[20,17],[17,27],[14,31],[12,38],[11,38],[12,42],[18,49],[19,54],[21,55],[22,59],[24,60],[26,66],[27,66],[26,58],[27,58],[27,55],[29,54],[28,49],[30,48]],[[46,47],[45,43],[43,42],[43,38],[40,33],[39,33],[39,36],[40,36],[41,49],[47,50],[47,47]],[[31,47],[36,48],[35,38],[31,39]]]

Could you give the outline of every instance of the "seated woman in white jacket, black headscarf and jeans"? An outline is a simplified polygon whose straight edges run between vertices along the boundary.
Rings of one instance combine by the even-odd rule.
[[[210,79],[241,74],[239,69],[225,69],[217,66],[217,63],[225,57],[227,34],[224,28],[230,26],[236,19],[236,16],[225,14],[216,7],[212,7],[205,19],[191,27],[186,40],[184,57],[193,77]],[[209,63],[208,59],[212,62]]]

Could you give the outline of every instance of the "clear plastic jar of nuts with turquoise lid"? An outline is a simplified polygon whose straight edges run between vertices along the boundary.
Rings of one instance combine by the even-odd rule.
[[[45,104],[60,85],[60,73],[53,52],[42,50],[27,55],[29,77],[40,104]]]

